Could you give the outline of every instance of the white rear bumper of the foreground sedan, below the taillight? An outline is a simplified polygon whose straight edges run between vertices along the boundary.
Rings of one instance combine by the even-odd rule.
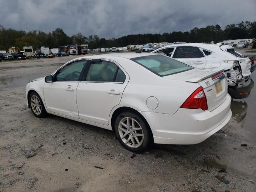
[[[232,116],[231,97],[212,111],[180,108],[175,114],[141,112],[159,144],[197,144],[224,127]]]

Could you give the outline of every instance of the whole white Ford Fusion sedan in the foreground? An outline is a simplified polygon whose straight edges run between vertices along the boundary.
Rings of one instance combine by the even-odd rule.
[[[26,86],[39,118],[54,114],[113,130],[128,150],[150,142],[196,144],[231,117],[222,70],[188,66],[168,56],[117,53],[67,62]]]

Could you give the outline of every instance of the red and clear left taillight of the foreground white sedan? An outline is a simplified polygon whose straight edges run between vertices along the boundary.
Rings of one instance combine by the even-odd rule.
[[[186,109],[202,109],[207,110],[207,100],[204,94],[204,89],[201,87],[197,88],[182,104],[180,108]]]

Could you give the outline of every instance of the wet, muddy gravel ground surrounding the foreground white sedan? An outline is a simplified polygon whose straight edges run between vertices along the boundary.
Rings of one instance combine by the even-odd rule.
[[[256,191],[255,87],[232,101],[230,122],[204,142],[133,155],[112,131],[36,118],[26,107],[26,83],[75,57],[0,62],[0,192]]]

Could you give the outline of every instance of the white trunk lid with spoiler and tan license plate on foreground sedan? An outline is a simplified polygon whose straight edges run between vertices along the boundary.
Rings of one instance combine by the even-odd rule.
[[[200,84],[204,89],[209,111],[220,106],[228,94],[228,82],[223,69],[205,70],[195,68],[179,74],[164,76],[163,78]]]

